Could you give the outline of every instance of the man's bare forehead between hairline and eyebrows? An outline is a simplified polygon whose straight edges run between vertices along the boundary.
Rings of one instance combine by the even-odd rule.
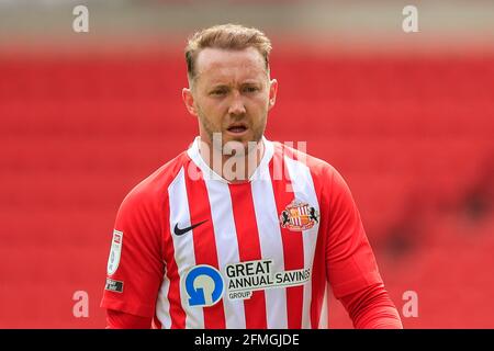
[[[195,60],[200,80],[259,79],[266,77],[262,55],[254,47],[242,50],[206,47]]]

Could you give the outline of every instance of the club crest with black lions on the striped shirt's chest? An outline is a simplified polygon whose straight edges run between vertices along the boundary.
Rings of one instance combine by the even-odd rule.
[[[319,213],[307,203],[293,200],[281,213],[280,223],[282,228],[302,231],[319,223]]]

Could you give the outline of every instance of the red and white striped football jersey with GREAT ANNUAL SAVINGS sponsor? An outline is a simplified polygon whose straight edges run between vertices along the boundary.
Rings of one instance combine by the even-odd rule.
[[[341,176],[262,143],[245,182],[214,173],[198,137],[128,193],[102,307],[156,328],[321,328],[328,283],[336,297],[382,283]]]

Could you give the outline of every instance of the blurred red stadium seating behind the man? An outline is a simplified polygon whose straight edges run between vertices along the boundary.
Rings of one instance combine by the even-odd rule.
[[[494,155],[493,67],[476,56],[273,56],[267,135],[306,141],[343,173],[398,310],[404,291],[419,293],[420,318],[406,327],[494,327],[482,313],[492,213],[458,215],[473,185],[492,185],[480,174]],[[120,202],[197,133],[184,68],[155,50],[0,55],[0,327],[104,326]],[[400,235],[409,249],[392,251]],[[92,318],[71,315],[79,290]],[[332,326],[350,326],[332,306]]]

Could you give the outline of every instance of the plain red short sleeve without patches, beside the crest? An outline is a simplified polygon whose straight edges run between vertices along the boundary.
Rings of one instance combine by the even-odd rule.
[[[333,167],[326,177],[327,279],[337,298],[382,283],[360,214],[343,177]],[[328,185],[328,186],[327,186]],[[327,189],[329,188],[329,189]]]

